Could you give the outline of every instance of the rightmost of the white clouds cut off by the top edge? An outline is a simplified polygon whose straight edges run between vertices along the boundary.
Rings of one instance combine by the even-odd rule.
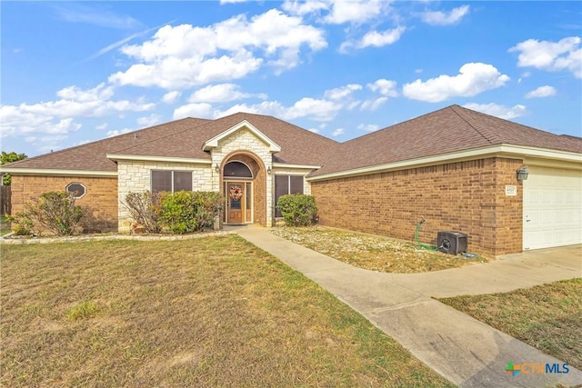
[[[336,0],[329,15],[324,17],[324,22],[332,25],[344,23],[362,24],[383,14],[388,5],[379,0]]]

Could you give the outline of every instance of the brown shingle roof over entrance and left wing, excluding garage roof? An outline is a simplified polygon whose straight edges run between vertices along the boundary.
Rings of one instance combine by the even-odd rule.
[[[253,124],[282,148],[274,162],[321,165],[338,143],[322,135],[306,131],[294,124],[261,114],[231,114],[216,120],[185,118],[159,124],[128,134],[121,134],[89,144],[42,154],[3,168],[116,171],[114,161],[106,154],[171,156],[208,159],[202,150],[206,140],[226,131],[243,120]]]

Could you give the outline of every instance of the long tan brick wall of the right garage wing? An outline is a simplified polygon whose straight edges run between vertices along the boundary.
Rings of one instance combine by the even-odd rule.
[[[436,244],[438,231],[468,235],[468,251],[522,250],[522,160],[487,158],[311,182],[320,224]],[[506,196],[506,185],[517,185]]]

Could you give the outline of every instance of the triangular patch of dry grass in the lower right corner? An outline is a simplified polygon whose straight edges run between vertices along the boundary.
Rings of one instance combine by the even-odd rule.
[[[582,278],[439,301],[582,369]]]

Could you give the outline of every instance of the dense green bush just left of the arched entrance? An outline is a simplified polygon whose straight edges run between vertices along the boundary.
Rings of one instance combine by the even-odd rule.
[[[222,205],[223,196],[215,192],[163,193],[159,220],[176,234],[200,232],[214,224]]]

